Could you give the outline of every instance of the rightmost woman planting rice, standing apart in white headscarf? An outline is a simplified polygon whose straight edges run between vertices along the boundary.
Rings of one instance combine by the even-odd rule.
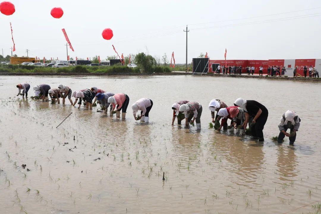
[[[285,136],[289,137],[290,144],[294,144],[299,131],[301,119],[298,114],[292,110],[287,110],[281,117],[279,124],[280,134],[278,136],[278,143],[282,143]],[[286,131],[290,129],[290,134]]]

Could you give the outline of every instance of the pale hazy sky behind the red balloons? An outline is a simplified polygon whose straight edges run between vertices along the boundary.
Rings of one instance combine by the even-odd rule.
[[[200,52],[223,59],[225,48],[228,59],[321,58],[320,0],[11,2],[16,12],[11,16],[0,13],[0,49],[5,56],[11,54],[13,45],[12,22],[14,54],[26,55],[28,48],[29,56],[41,59],[66,59],[61,31],[65,28],[75,50],[68,49],[68,54],[74,58],[100,55],[105,59],[115,54],[114,45],[124,56],[147,49],[152,56],[166,53],[170,60],[174,51],[176,63],[185,63],[186,25],[189,63]],[[61,19],[50,15],[53,7],[62,7]],[[111,40],[102,38],[105,28],[114,31]]]

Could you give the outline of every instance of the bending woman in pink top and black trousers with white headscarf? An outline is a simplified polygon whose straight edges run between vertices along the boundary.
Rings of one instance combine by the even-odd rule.
[[[112,97],[108,98],[108,102],[112,104],[113,109],[115,110],[116,105],[116,117],[120,117],[120,110],[122,110],[121,118],[125,119],[126,117],[126,110],[129,104],[129,97],[124,93],[118,93],[113,95]]]

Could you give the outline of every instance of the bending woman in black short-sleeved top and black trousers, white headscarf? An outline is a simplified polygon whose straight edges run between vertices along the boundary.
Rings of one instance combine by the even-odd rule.
[[[251,123],[251,133],[254,138],[258,138],[259,141],[264,141],[263,129],[269,115],[265,106],[255,100],[244,100],[238,98],[234,102],[235,106],[242,107],[245,111],[245,123],[244,129],[247,127],[250,116],[254,117]]]

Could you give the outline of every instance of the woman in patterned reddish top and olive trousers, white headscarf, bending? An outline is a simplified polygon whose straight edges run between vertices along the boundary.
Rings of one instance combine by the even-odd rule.
[[[185,114],[185,125],[188,127],[189,123],[194,124],[196,120],[196,128],[197,130],[201,129],[201,115],[202,115],[202,105],[198,102],[188,102],[179,107],[180,112],[184,112]]]

